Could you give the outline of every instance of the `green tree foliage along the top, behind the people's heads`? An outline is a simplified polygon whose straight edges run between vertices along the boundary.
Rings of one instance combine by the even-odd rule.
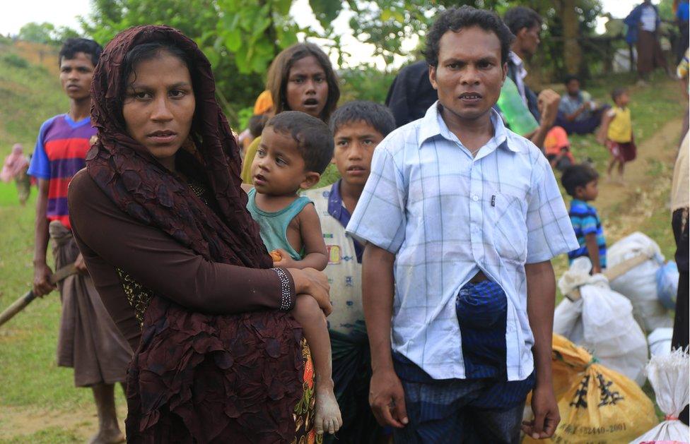
[[[334,49],[342,66],[341,36],[333,23],[345,11],[350,15],[353,35],[361,42],[373,44],[374,55],[382,56],[390,64],[395,54],[412,58],[413,53],[403,50],[404,40],[413,35],[423,36],[446,8],[469,4],[502,16],[512,6],[530,6],[545,19],[539,64],[551,73],[573,71],[580,59],[587,63],[592,57],[584,54],[566,63],[565,54],[576,54],[573,44],[577,46],[578,39],[592,34],[595,18],[601,11],[600,0],[309,0],[319,28],[316,24],[300,27],[296,23],[290,14],[295,1],[92,0],[93,13],[82,20],[82,25],[88,35],[102,44],[134,25],[166,24],[182,30],[209,57],[218,97],[230,119],[237,122],[238,111],[253,104],[264,88],[264,74],[271,61],[282,49],[297,42],[298,35],[327,39],[328,47],[324,49]],[[573,8],[575,11],[570,11]],[[563,17],[571,21],[563,23]],[[370,65],[341,73],[346,88],[358,91],[368,83],[366,74],[373,71],[375,68]],[[383,85],[378,88],[387,89]]]

